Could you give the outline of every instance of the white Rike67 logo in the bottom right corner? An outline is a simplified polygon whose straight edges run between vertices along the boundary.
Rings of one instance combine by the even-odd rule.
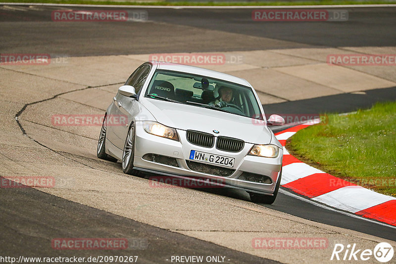
[[[343,244],[336,244],[334,245],[330,260],[368,261],[374,256],[377,261],[387,263],[392,260],[393,255],[394,249],[387,242],[381,242],[377,244],[374,250],[358,249],[356,244],[353,244],[352,246],[350,244],[347,246],[344,246]]]

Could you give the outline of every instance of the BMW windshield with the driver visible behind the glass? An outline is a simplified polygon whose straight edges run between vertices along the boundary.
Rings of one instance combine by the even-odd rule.
[[[145,96],[262,120],[251,88],[205,76],[157,70]]]

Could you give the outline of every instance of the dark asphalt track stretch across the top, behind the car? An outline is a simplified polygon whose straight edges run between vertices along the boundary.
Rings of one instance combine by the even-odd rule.
[[[314,23],[257,22],[251,19],[253,9],[159,8],[130,9],[147,10],[146,23],[61,23],[51,21],[51,12],[59,7],[45,7],[44,11],[26,9],[0,10],[0,22],[5,22],[1,24],[1,52],[82,56],[279,49],[313,45],[394,46],[396,43],[396,7],[342,8],[348,11],[348,21]],[[199,29],[216,32],[207,35]],[[230,40],[223,36],[224,32],[241,35]],[[263,41],[254,37],[267,39]]]

